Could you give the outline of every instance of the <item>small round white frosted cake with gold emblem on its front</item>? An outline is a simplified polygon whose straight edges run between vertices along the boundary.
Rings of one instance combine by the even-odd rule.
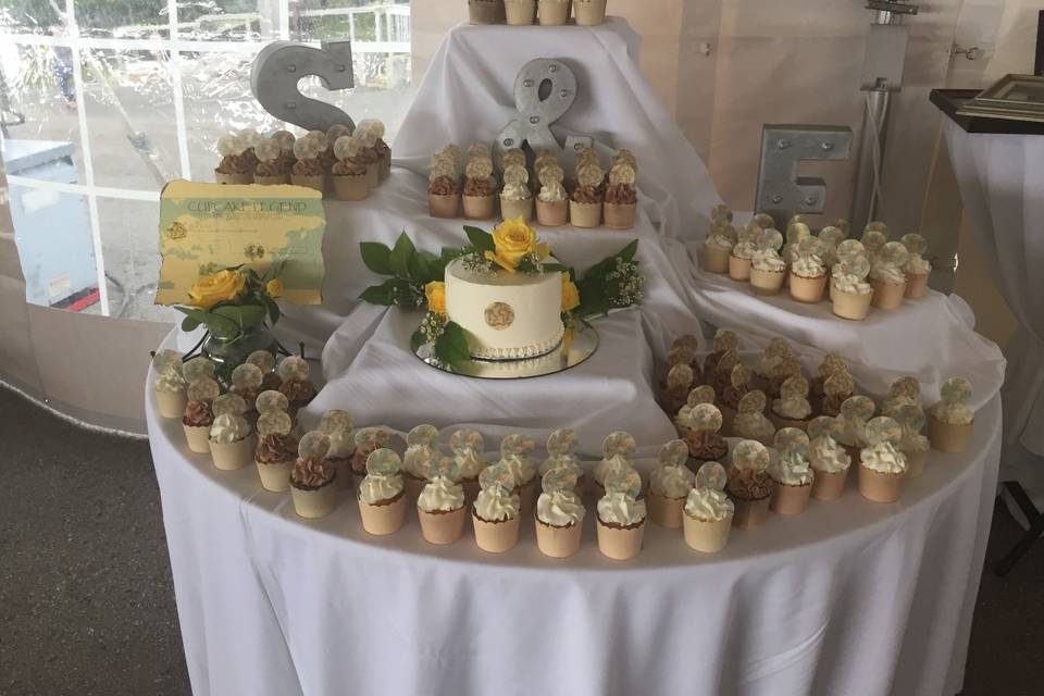
[[[559,273],[472,271],[458,259],[446,266],[446,314],[468,336],[472,357],[521,360],[562,340]]]

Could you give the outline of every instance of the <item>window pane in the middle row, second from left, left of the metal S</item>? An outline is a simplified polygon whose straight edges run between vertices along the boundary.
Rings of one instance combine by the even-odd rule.
[[[85,50],[83,61],[95,183],[158,191],[181,177],[167,55]]]

